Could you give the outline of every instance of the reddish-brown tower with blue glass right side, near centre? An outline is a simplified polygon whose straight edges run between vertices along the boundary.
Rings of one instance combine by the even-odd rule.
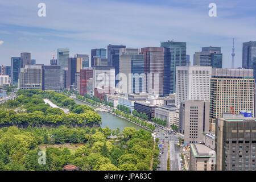
[[[144,56],[146,90],[151,94],[170,93],[170,49],[164,47],[141,48]]]

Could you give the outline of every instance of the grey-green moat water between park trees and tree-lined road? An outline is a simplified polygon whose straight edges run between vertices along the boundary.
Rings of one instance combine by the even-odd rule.
[[[89,104],[86,104],[85,102],[79,101],[76,98],[74,98],[76,104],[80,104],[80,105],[88,105],[91,106]],[[135,125],[132,122],[127,121],[126,119],[123,118],[119,118],[113,114],[110,114],[108,112],[99,112],[98,114],[101,115],[101,127],[106,127],[108,126],[110,129],[117,129],[119,128],[120,131],[123,131],[123,129],[125,129],[125,127],[134,127],[135,129],[139,130],[139,129],[143,129],[142,127]]]

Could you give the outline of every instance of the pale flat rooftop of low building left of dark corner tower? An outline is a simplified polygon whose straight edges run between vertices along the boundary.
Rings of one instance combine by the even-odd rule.
[[[192,143],[191,151],[196,158],[210,158],[214,156],[214,150],[204,144]]]

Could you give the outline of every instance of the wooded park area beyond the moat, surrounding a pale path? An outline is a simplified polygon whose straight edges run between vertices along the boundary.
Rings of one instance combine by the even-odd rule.
[[[42,90],[19,90],[15,100],[1,105],[0,124],[78,124],[101,123],[101,116],[87,105],[77,105],[75,101],[63,94]],[[52,108],[44,103],[44,98],[54,104],[68,108],[66,114],[59,108]]]

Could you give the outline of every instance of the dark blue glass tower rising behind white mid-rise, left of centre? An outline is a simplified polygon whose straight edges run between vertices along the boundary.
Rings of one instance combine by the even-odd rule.
[[[126,46],[114,46],[109,44],[108,46],[108,65],[115,68],[115,77],[119,73],[119,50],[121,48],[126,48]],[[115,86],[117,85],[118,80],[115,80]]]

